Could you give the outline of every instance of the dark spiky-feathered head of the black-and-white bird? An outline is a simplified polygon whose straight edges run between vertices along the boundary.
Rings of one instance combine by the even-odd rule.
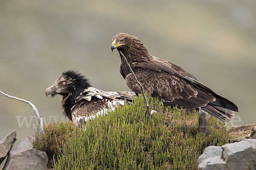
[[[48,96],[55,96],[60,94],[62,96],[72,94],[75,90],[85,89],[90,87],[88,79],[77,71],[64,71],[55,83],[46,89],[45,94]]]

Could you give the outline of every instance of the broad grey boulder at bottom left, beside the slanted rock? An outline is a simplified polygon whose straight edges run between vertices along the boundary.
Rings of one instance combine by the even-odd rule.
[[[44,151],[32,148],[32,137],[27,137],[10,150],[3,170],[48,170],[48,157]]]

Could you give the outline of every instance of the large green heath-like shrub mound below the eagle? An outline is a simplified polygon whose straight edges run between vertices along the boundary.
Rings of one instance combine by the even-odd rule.
[[[197,158],[209,145],[232,139],[224,124],[208,117],[209,134],[198,134],[198,115],[164,107],[149,98],[146,115],[143,97],[86,124],[86,130],[67,134],[55,170],[196,169]]]

